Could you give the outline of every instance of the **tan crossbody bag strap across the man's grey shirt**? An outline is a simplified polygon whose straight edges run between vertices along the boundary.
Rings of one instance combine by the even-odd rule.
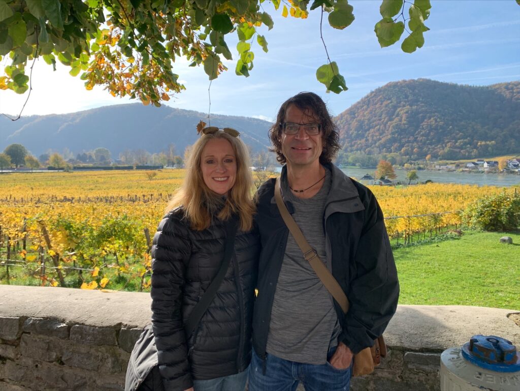
[[[310,263],[310,266],[314,269],[314,272],[318,275],[320,281],[323,283],[323,285],[325,285],[327,291],[329,291],[332,297],[337,301],[337,304],[340,305],[343,312],[347,313],[349,304],[345,292],[343,292],[340,284],[336,281],[329,269],[327,269],[327,267],[323,264],[320,257],[316,253],[316,250],[310,246],[309,242],[307,242],[307,239],[305,239],[305,236],[300,230],[300,227],[298,227],[298,224],[296,224],[294,221],[291,213],[289,213],[289,210],[287,210],[287,206],[285,206],[282,200],[280,181],[280,178],[276,179],[275,200],[285,225],[287,225],[287,228],[289,228],[289,231],[291,231],[296,244],[302,250],[305,260]]]

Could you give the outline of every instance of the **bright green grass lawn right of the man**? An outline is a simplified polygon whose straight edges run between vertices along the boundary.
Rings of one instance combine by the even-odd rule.
[[[513,244],[500,243],[511,236]],[[394,250],[399,304],[520,310],[520,232],[464,232],[456,240]]]

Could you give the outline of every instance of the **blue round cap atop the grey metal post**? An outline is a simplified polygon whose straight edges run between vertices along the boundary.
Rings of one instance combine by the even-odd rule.
[[[520,371],[520,354],[511,341],[495,335],[474,335],[462,346],[462,356],[496,372]]]

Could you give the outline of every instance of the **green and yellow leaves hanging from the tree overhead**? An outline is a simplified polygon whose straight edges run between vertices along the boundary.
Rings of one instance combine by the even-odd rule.
[[[430,0],[406,2],[409,36],[402,49],[411,53],[424,44],[424,21]],[[383,0],[383,19],[375,25],[382,47],[399,41],[405,30],[403,0]],[[56,62],[81,73],[87,90],[104,85],[113,96],[138,98],[160,106],[162,100],[185,89],[174,63],[179,57],[191,66],[203,65],[209,79],[227,70],[223,58],[233,59],[227,34],[238,35],[235,72],[249,76],[253,69],[251,48],[268,51],[266,36],[258,27],[274,27],[268,14],[306,19],[315,10],[328,14],[335,29],[354,21],[347,0],[2,0],[0,2],[0,60],[10,64],[0,76],[0,89],[24,93],[29,88],[28,61],[42,57],[56,69]],[[404,21],[397,21],[402,18]],[[344,77],[327,55],[318,80],[327,91],[347,90]]]

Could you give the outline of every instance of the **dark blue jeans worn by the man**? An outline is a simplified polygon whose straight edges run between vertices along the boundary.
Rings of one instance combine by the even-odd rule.
[[[266,371],[263,362],[253,350],[249,367],[249,391],[295,391],[302,382],[305,391],[347,391],[350,386],[352,365],[336,369],[329,363],[336,348],[330,348],[327,363],[304,364],[267,355]]]

